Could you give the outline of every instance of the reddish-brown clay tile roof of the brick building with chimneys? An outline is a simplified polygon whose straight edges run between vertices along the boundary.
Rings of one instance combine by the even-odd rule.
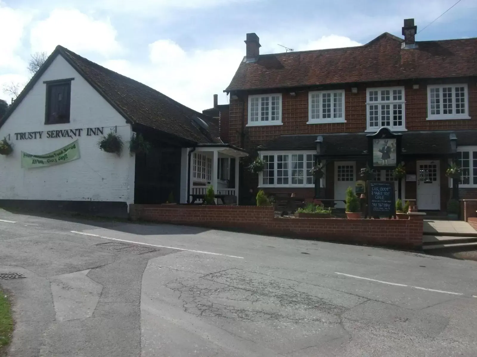
[[[416,49],[402,42],[385,32],[362,46],[244,58],[225,91],[477,76],[477,38],[418,41]]]

